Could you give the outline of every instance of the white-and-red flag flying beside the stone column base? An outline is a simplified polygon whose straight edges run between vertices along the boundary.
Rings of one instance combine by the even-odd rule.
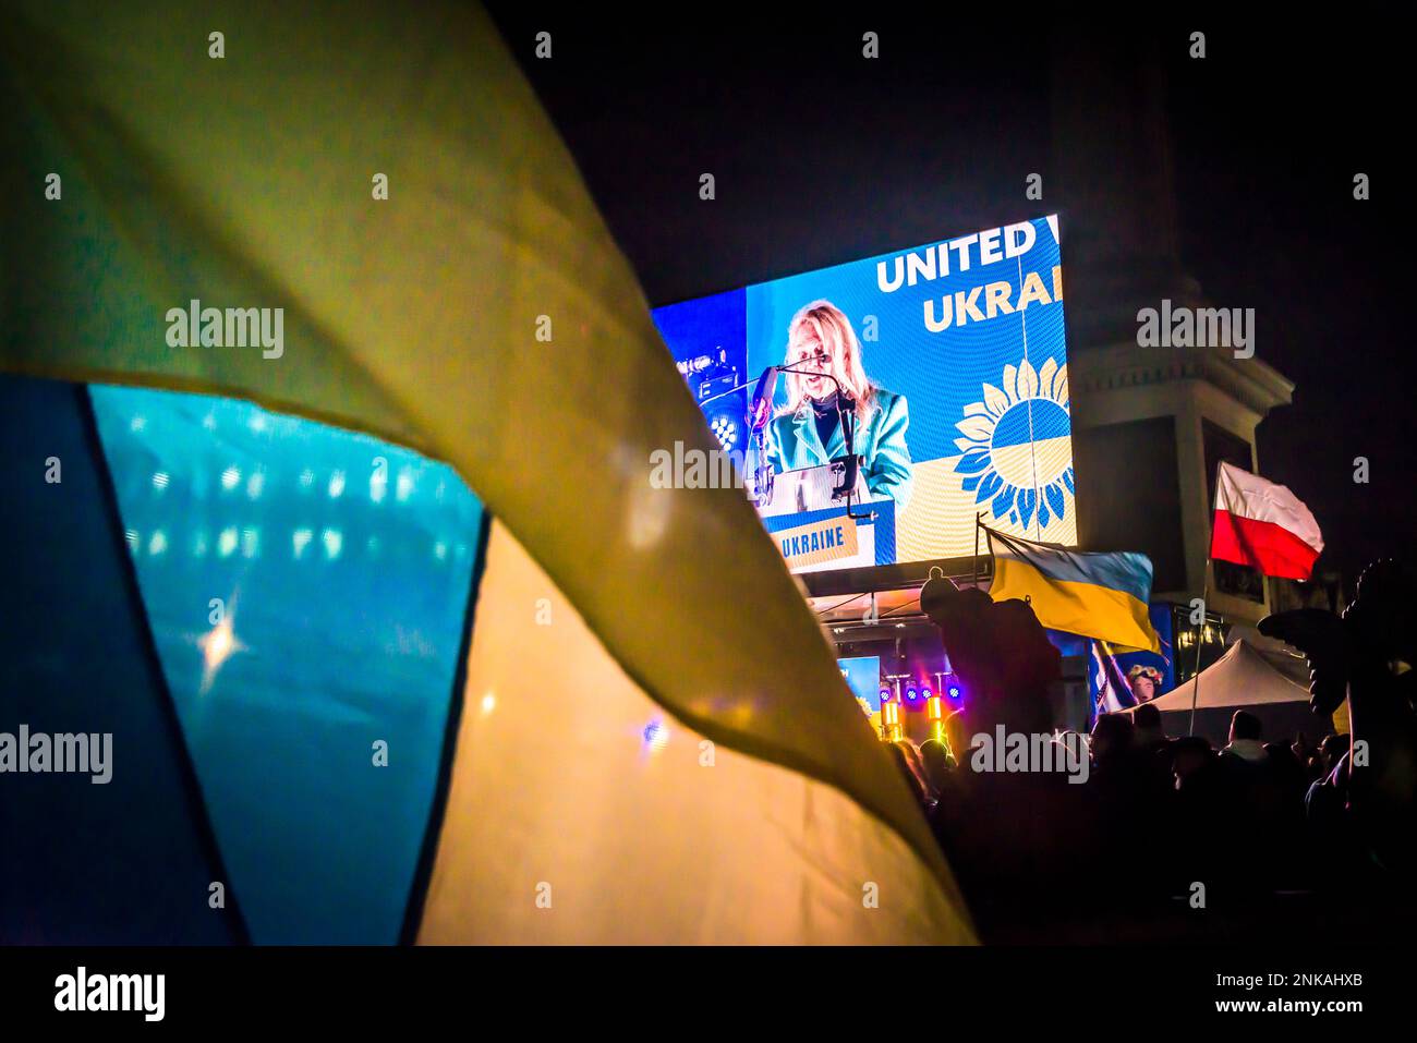
[[[1323,550],[1319,523],[1287,486],[1220,465],[1210,557],[1285,580],[1308,580]]]

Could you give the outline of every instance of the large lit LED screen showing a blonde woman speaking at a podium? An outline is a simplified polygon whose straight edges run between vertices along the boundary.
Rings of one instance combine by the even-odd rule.
[[[965,557],[976,514],[1076,544],[1056,215],[669,305],[655,322],[794,571]],[[847,434],[850,503],[833,497]]]

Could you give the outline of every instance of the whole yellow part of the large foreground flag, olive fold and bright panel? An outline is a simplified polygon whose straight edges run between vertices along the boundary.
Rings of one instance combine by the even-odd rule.
[[[492,517],[407,940],[973,940],[757,513],[650,485],[717,444],[485,11],[16,0],[0,64],[0,368],[370,432]],[[176,346],[193,300],[282,350]]]

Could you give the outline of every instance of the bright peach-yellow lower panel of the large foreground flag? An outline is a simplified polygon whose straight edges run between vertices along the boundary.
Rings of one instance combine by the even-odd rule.
[[[972,940],[894,830],[665,713],[497,523],[475,619],[419,942]]]

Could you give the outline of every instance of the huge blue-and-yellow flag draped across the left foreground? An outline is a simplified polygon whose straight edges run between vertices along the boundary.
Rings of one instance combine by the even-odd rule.
[[[102,721],[122,751],[111,785],[26,777],[0,941],[973,941],[751,504],[650,485],[653,451],[717,442],[483,10],[14,0],[0,102],[0,424],[33,463],[0,475],[0,616],[26,622],[0,653],[28,679],[0,721]],[[282,351],[171,344],[190,300],[282,309]],[[94,412],[146,486],[92,452]],[[204,490],[188,449],[225,461]],[[428,487],[442,527],[395,574],[360,519]],[[174,496],[235,520],[188,543]],[[167,563],[214,557],[252,571],[197,689],[177,632],[235,598]],[[315,575],[366,597],[312,611]],[[452,622],[410,626],[421,598]],[[279,697],[312,648],[332,669]],[[275,738],[306,750],[281,794]],[[52,828],[75,815],[94,830]]]

